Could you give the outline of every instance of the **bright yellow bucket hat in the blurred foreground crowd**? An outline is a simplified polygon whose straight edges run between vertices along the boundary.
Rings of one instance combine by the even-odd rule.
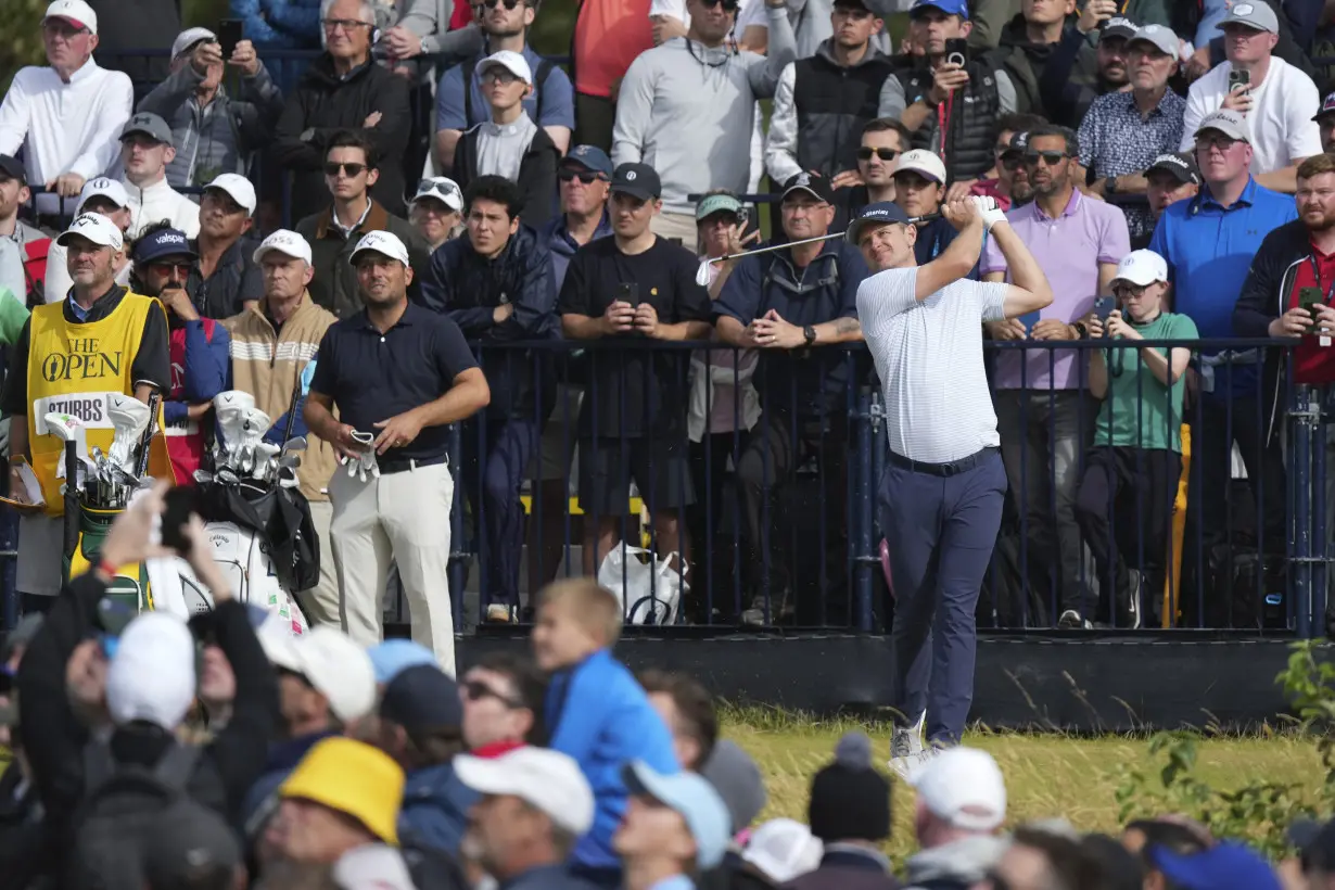
[[[347,814],[380,841],[399,842],[403,770],[370,745],[342,737],[318,742],[278,793]]]

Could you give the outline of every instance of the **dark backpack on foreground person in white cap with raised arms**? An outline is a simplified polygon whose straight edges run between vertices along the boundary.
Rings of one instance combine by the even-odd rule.
[[[84,749],[84,799],[71,850],[77,890],[146,887],[143,843],[164,819],[198,821],[212,810],[186,790],[200,750],[172,743],[152,767],[116,763],[107,742]]]

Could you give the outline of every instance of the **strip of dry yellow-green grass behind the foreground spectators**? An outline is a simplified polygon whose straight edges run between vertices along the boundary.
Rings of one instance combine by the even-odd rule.
[[[812,777],[825,766],[838,738],[850,730],[870,735],[876,766],[885,770],[889,727],[849,719],[809,721],[780,711],[726,709],[724,734],[760,763],[769,791],[761,819],[786,815],[806,821]],[[991,753],[1005,775],[1008,825],[1065,817],[1081,831],[1116,833],[1120,767],[1151,766],[1145,737],[1076,738],[1057,734],[971,731],[965,745]],[[1202,782],[1231,790],[1252,782],[1316,785],[1322,766],[1315,741],[1276,731],[1251,737],[1203,737],[1193,773]],[[916,849],[913,790],[893,782],[894,829],[886,851],[896,865]],[[1139,815],[1139,814],[1137,814]]]

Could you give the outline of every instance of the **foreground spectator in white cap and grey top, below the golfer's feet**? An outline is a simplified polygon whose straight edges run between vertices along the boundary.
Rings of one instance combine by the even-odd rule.
[[[992,755],[952,747],[912,777],[913,830],[922,849],[905,862],[906,890],[967,890],[1001,858],[1005,782]]]

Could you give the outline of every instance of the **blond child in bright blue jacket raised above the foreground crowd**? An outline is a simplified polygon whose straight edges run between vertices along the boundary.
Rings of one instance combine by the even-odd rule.
[[[672,734],[625,664],[611,656],[621,636],[621,603],[591,578],[558,580],[538,595],[533,655],[551,674],[549,747],[569,754],[593,787],[594,822],[571,854],[571,867],[607,887],[619,886],[611,835],[626,810],[621,767],[643,761],[678,771]]]

